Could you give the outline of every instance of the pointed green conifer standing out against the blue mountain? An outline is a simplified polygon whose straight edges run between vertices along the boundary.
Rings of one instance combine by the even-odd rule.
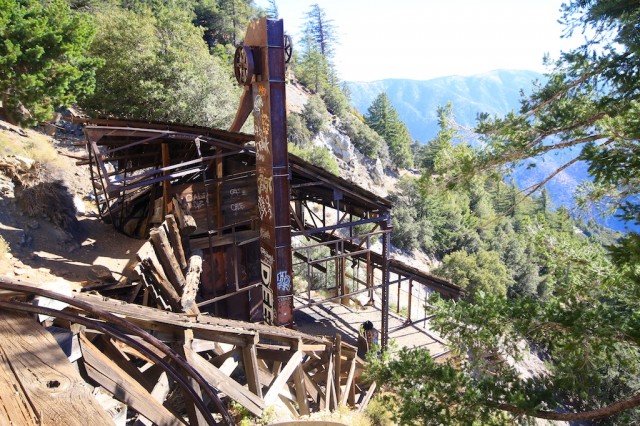
[[[386,93],[380,93],[373,101],[365,120],[387,142],[391,160],[397,167],[413,167],[411,135]]]

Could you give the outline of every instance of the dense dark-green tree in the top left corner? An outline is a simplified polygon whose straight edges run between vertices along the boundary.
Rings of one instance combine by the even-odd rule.
[[[64,0],[0,0],[0,93],[7,118],[34,124],[91,93],[100,64],[87,55],[93,35],[90,17]]]

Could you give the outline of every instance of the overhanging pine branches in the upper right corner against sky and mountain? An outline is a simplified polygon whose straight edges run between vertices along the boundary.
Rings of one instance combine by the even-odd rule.
[[[638,221],[639,16],[640,6],[624,0],[566,4],[567,32],[584,31],[586,42],[549,63],[547,82],[522,98],[520,111],[480,117],[488,149],[479,167],[513,166],[572,147],[574,158],[548,178],[584,160],[594,181],[582,186],[579,204],[602,203]]]

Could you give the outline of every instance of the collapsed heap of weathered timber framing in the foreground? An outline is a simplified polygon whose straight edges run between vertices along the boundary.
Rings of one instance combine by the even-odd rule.
[[[0,301],[5,373],[0,392],[12,394],[3,401],[17,398],[13,411],[3,404],[4,414],[16,424],[56,420],[86,425],[95,412],[103,411],[86,395],[78,400],[68,395],[86,386],[80,385],[83,379],[67,357],[79,364],[86,380],[139,413],[143,423],[184,424],[185,416],[189,424],[232,424],[229,401],[221,399],[235,401],[256,416],[280,399],[297,418],[341,404],[364,407],[375,389],[359,383],[363,361],[356,348],[339,338],[160,311],[95,294],[64,296],[7,279],[0,280],[0,289],[3,299],[6,292],[12,299]],[[30,296],[62,302],[65,308],[28,303]],[[49,333],[38,331],[42,327],[33,318],[12,312],[55,317],[49,330],[72,342],[69,353],[52,344]],[[72,348],[79,348],[79,354],[72,355]],[[172,403],[167,398],[175,389],[181,398],[173,397]],[[37,422],[24,421],[29,418]],[[107,419],[100,424],[113,422]]]

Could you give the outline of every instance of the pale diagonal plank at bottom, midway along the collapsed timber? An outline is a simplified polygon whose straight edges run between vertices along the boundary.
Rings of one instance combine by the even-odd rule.
[[[198,373],[200,373],[211,386],[224,392],[229,398],[241,404],[252,414],[256,416],[262,415],[262,410],[265,407],[262,398],[259,398],[233,379],[227,377],[191,348],[185,347],[184,353],[189,364],[198,370]]]

